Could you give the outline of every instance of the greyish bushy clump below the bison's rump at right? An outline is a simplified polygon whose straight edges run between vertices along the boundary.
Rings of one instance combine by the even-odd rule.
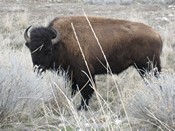
[[[175,74],[162,73],[158,79],[147,74],[147,84],[137,84],[128,90],[126,108],[131,121],[137,127],[152,127],[159,130],[174,129]]]

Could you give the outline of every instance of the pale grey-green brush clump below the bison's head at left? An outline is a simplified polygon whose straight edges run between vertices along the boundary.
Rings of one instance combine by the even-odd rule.
[[[0,53],[0,127],[42,116],[42,104],[53,98],[50,82],[33,73],[25,52],[6,49]],[[63,86],[64,79],[57,75],[55,82]]]

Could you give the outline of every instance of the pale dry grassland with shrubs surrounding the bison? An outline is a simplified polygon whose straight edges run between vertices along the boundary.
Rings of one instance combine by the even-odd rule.
[[[173,3],[173,0],[1,0],[0,130],[174,130]],[[155,28],[164,43],[160,79],[147,74],[145,85],[133,68],[114,77],[97,76],[91,110],[77,112],[80,95],[70,97],[65,72],[48,71],[43,76],[33,72],[23,33],[29,25],[45,26],[57,16],[83,15],[82,9],[87,15],[139,21]]]

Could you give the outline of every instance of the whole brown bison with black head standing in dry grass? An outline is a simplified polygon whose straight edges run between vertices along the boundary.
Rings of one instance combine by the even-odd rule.
[[[153,67],[161,71],[161,37],[143,23],[95,16],[89,16],[88,19],[84,16],[69,16],[55,18],[47,27],[30,27],[25,30],[24,38],[33,65],[43,71],[60,67],[68,71],[73,82],[72,95],[77,90],[81,92],[79,110],[87,109],[94,92],[94,77],[107,73],[106,65],[113,74],[134,66],[143,76],[145,71],[150,71],[148,61],[152,61]]]

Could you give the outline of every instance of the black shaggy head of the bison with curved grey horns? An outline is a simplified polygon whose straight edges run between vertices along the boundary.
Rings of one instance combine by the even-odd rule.
[[[53,28],[36,27],[31,29],[28,35],[29,26],[24,32],[26,46],[32,56],[33,65],[39,70],[45,71],[51,67],[53,57],[53,45],[60,40],[59,32]]]

